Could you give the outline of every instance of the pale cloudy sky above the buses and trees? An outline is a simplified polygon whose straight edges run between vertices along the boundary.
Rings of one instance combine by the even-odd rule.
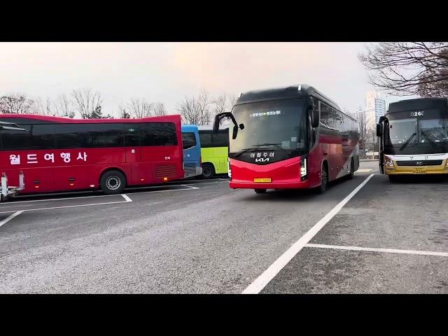
[[[203,88],[216,95],[308,84],[355,111],[374,88],[357,57],[368,44],[0,43],[0,95],[54,99],[88,87],[102,93],[102,111],[118,116],[118,104],[133,97],[163,102],[174,114]]]

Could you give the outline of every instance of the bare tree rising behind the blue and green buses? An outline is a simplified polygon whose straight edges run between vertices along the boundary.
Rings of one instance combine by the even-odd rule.
[[[176,111],[181,114],[184,123],[210,125],[211,104],[209,94],[206,90],[202,90],[197,97],[185,97],[177,105]]]

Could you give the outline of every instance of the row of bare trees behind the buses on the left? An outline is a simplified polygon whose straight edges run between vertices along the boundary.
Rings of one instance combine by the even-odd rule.
[[[230,111],[236,102],[232,94],[219,94],[212,97],[207,90],[201,90],[197,96],[184,97],[176,105],[183,123],[210,125],[216,113]],[[9,94],[0,97],[0,113],[36,113],[43,116],[62,116],[83,119],[113,118],[102,112],[102,94],[91,89],[73,90],[70,94],[59,94],[56,99],[32,99],[26,94]],[[167,109],[161,102],[148,102],[144,97],[132,98],[126,104],[118,106],[120,118],[145,118],[165,116]]]

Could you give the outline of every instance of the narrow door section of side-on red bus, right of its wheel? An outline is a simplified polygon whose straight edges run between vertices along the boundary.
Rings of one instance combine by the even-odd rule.
[[[127,176],[130,179],[129,184],[145,182],[145,172],[140,167],[141,147],[139,125],[125,124],[125,161],[131,164],[131,176]],[[142,179],[144,181],[141,181]]]

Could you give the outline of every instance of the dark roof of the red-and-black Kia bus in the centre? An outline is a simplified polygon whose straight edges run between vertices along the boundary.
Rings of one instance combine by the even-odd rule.
[[[235,105],[276,99],[293,99],[306,96],[314,96],[316,98],[319,98],[326,104],[330,105],[332,108],[341,111],[341,109],[339,109],[339,106],[337,106],[337,104],[333,102],[332,99],[326,97],[325,94],[319,92],[314,87],[306,84],[242,92]]]

